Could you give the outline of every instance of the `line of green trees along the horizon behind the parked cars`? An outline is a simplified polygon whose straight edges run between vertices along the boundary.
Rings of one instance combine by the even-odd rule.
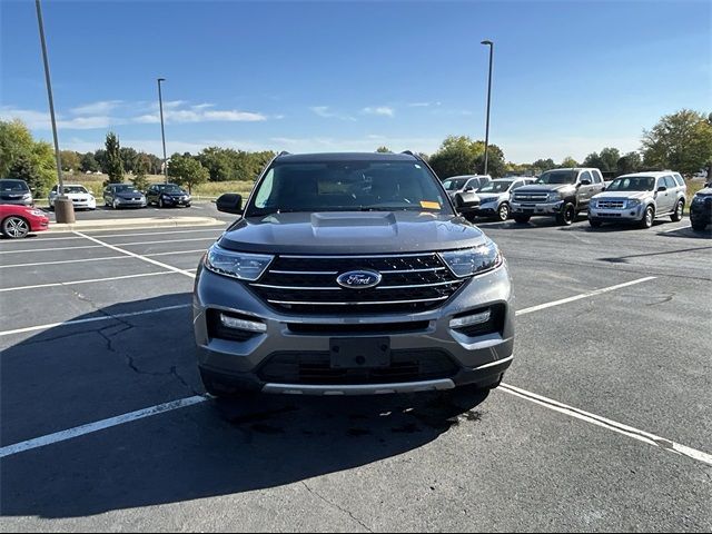
[[[389,152],[378,147],[378,152]],[[275,156],[270,150],[248,152],[231,148],[208,147],[197,155],[174,154],[168,160],[171,181],[191,189],[205,181],[254,181],[264,166]],[[433,155],[421,154],[441,178],[484,172],[484,141],[466,136],[448,136]],[[119,137],[108,132],[105,146],[93,152],[60,152],[65,171],[103,172],[111,182],[125,181],[127,175],[140,189],[148,187],[147,175],[162,171],[162,160],[152,154],[121,147]],[[692,176],[708,169],[712,177],[712,113],[682,109],[662,117],[651,130],[644,130],[641,149],[621,154],[604,147],[589,154],[582,162],[572,157],[555,162],[541,158],[530,164],[514,164],[504,151],[490,145],[487,171],[493,177],[512,174],[538,175],[562,167],[597,167],[607,176],[639,170],[672,169]],[[36,141],[20,120],[0,121],[0,178],[20,178],[44,195],[57,181],[55,155],[51,146]]]

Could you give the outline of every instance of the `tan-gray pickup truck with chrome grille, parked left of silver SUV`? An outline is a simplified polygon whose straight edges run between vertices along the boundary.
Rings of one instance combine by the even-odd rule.
[[[591,198],[603,191],[603,176],[599,169],[552,169],[531,186],[512,195],[512,214],[517,222],[532,217],[555,217],[558,225],[571,225],[581,211],[589,209]]]

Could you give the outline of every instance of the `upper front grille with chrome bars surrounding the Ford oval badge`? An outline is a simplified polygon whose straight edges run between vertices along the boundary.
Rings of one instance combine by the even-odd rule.
[[[349,270],[383,275],[376,287],[346,289]],[[416,313],[442,306],[464,283],[435,253],[399,256],[279,256],[253,290],[270,306],[299,314]]]

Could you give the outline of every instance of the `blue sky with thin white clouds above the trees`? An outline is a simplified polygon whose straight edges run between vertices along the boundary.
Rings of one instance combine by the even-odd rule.
[[[51,139],[34,2],[0,11],[0,118]],[[165,77],[169,152],[432,154],[449,134],[508,160],[583,159],[640,147],[681,108],[712,111],[709,1],[43,1],[62,149],[111,129],[159,154]]]

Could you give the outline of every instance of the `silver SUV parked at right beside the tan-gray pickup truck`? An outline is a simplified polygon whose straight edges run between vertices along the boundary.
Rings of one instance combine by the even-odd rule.
[[[682,219],[686,190],[685,180],[670,171],[619,176],[605,192],[591,200],[589,222],[594,228],[603,222],[636,222],[650,228],[660,217],[678,221]]]

